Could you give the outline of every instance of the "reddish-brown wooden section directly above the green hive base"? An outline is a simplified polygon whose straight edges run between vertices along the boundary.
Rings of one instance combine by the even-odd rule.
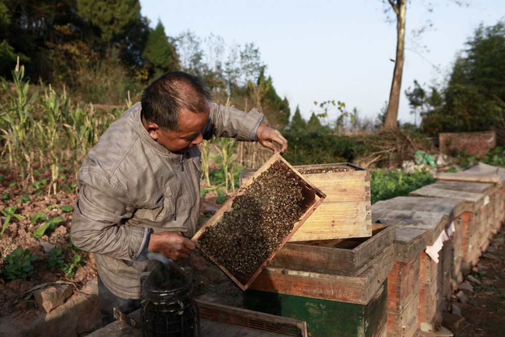
[[[393,268],[391,246],[356,277],[266,267],[250,289],[316,299],[367,304]]]

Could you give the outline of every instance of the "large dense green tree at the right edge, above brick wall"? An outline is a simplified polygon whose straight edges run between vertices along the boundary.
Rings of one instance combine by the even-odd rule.
[[[481,131],[499,124],[500,101],[505,101],[505,22],[481,25],[466,44],[466,55],[456,60],[443,90],[443,104],[423,119],[429,134]]]

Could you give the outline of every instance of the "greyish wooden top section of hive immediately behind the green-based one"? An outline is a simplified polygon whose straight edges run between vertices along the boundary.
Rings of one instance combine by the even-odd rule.
[[[409,262],[426,248],[426,231],[396,226],[394,261]]]

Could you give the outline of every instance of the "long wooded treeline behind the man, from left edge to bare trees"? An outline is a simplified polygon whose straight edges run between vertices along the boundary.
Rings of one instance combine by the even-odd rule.
[[[155,77],[184,70],[203,77],[220,103],[261,106],[274,126],[289,120],[254,43],[167,36],[161,22],[149,27],[138,0],[0,0],[0,76],[12,80],[18,57],[32,82],[65,86],[83,103],[122,104],[128,91],[138,99]]]

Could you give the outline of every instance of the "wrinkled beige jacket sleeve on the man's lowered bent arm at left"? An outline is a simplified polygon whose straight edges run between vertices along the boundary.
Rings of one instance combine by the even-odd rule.
[[[77,184],[79,199],[70,228],[72,243],[86,252],[131,265],[142,252],[150,229],[122,224],[134,212],[128,194],[97,170],[79,172]]]

